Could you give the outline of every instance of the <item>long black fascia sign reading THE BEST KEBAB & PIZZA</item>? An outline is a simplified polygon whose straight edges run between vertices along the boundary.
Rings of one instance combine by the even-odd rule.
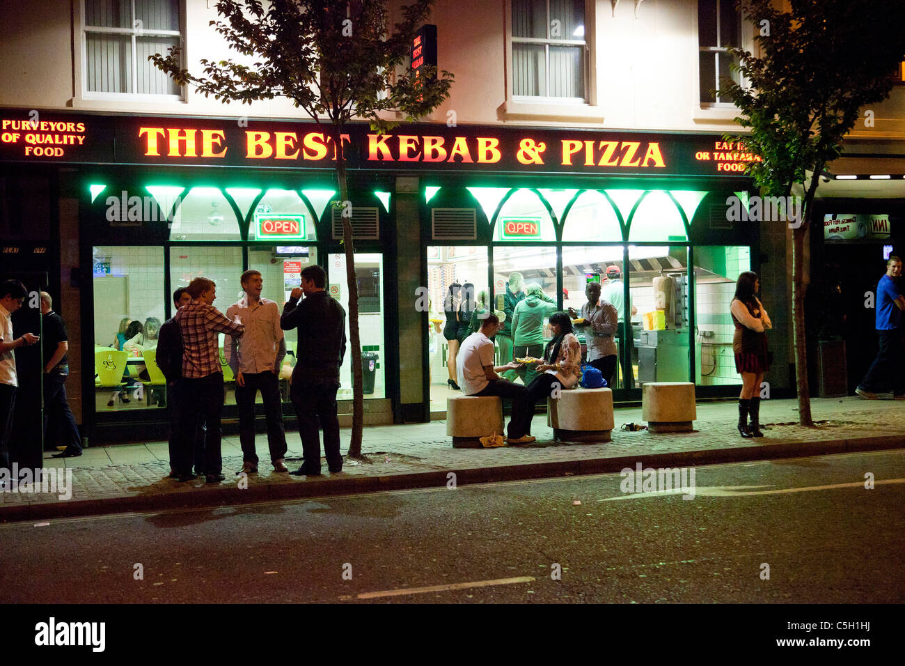
[[[313,122],[0,111],[0,161],[333,169],[337,142],[348,169],[418,172],[738,177],[757,159],[700,134],[354,123],[334,139]]]

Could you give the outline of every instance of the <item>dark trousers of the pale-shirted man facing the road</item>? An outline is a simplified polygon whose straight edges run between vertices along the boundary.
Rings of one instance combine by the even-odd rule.
[[[286,433],[282,426],[280,380],[270,371],[254,374],[242,373],[244,386],[235,384],[235,403],[239,406],[239,441],[242,443],[243,462],[258,464],[254,449],[254,397],[261,391],[264,414],[267,416],[267,447],[271,449],[271,462],[286,457]]]

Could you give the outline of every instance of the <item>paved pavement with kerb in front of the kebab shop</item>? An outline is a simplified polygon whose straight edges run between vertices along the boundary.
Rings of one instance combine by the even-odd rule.
[[[737,401],[699,402],[698,419],[689,433],[620,430],[624,423],[642,421],[641,408],[617,408],[612,441],[598,444],[554,442],[544,414],[536,415],[532,424],[536,442],[496,449],[452,449],[443,420],[368,426],[362,444],[365,459],[347,458],[338,474],[330,474],[323,464],[323,476],[311,478],[273,472],[263,433],[256,439],[259,473],[235,476],[242,468],[242,449],[238,437],[224,437],[226,480],[215,484],[206,484],[204,478],[184,483],[167,478],[166,441],[91,447],[79,458],[51,458],[47,452],[44,468],[55,470],[60,479],[71,470],[71,485],[51,487],[54,473],[48,472],[48,487],[20,484],[15,492],[0,492],[0,522],[599,474],[634,469],[638,463],[643,468],[675,468],[905,448],[905,401],[814,399],[811,409],[818,425],[801,428],[797,401],[761,401],[766,437],[758,439],[738,435]],[[139,439],[140,433],[136,436]],[[340,431],[343,452],[349,436],[349,429]],[[286,439],[287,465],[298,468],[298,433],[289,430]]]

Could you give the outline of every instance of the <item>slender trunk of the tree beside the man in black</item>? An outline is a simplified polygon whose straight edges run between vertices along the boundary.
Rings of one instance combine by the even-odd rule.
[[[346,158],[342,150],[342,128],[333,127],[333,141],[337,154],[339,202],[343,213],[347,210],[348,184]],[[348,208],[350,210],[350,208]],[[332,223],[331,223],[332,224]],[[346,284],[348,288],[348,353],[352,354],[352,439],[349,458],[362,458],[361,438],[365,421],[365,391],[361,372],[361,339],[358,334],[358,281],[355,275],[355,244],[352,240],[352,220],[342,217],[342,239],[346,250]]]

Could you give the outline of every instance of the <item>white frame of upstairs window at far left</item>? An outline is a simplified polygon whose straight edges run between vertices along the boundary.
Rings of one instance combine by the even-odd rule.
[[[102,27],[96,25],[86,25],[85,24],[85,16],[87,15],[87,11],[85,9],[86,0],[80,0],[76,4],[79,9],[78,21],[76,23],[76,28],[79,31],[78,34],[78,43],[81,45],[81,54],[77,60],[78,68],[76,71],[76,91],[81,95],[81,100],[83,101],[120,101],[120,102],[154,102],[159,104],[160,102],[185,102],[186,101],[186,89],[185,86],[180,86],[179,94],[170,95],[170,94],[148,94],[143,92],[96,92],[88,90],[88,44],[87,44],[87,35],[91,34],[128,34],[131,36],[131,45],[132,45],[132,72],[131,72],[131,81],[133,86],[135,82],[138,81],[138,62],[135,56],[136,53],[136,38],[138,35],[138,30],[133,24],[129,27]],[[132,16],[135,16],[135,0],[130,0],[132,5]],[[183,49],[182,57],[183,62],[186,62],[186,0],[179,0],[179,25],[180,30],[143,30],[142,35],[149,35],[155,37],[178,37],[179,39],[179,47]],[[149,64],[149,63],[148,63]]]

